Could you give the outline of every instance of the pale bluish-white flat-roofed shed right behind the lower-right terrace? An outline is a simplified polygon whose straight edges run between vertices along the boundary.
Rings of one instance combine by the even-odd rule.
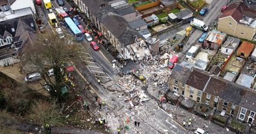
[[[236,83],[241,86],[251,88],[253,80],[254,80],[253,77],[241,73],[241,75],[237,78]]]

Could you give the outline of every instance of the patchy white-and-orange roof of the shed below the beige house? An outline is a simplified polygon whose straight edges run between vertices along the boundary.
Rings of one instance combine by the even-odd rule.
[[[209,31],[207,38],[205,40],[221,45],[225,40],[227,34],[221,31],[212,30]]]

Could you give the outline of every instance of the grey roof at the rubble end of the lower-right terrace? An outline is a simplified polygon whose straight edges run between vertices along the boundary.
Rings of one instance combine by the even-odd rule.
[[[186,83],[189,77],[191,70],[180,64],[176,64],[172,70],[170,78],[175,78],[179,82]]]

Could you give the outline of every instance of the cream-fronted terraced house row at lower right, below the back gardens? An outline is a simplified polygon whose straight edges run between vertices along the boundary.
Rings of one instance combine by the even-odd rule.
[[[240,86],[234,82],[225,80],[224,78],[212,75],[207,71],[198,70],[196,68],[186,68],[178,65],[173,68],[174,74],[170,75],[169,87],[170,90],[181,94],[182,96],[189,98],[196,103],[205,105],[213,110],[220,112],[221,115],[229,115],[239,121],[246,123],[255,123],[255,101],[256,93],[248,87]],[[186,73],[177,73],[177,70],[188,70]],[[184,72],[184,71],[182,71]],[[179,77],[173,77],[173,76]],[[180,82],[180,78],[185,78],[182,81],[182,91],[177,92],[177,87]],[[186,81],[184,81],[186,80]]]

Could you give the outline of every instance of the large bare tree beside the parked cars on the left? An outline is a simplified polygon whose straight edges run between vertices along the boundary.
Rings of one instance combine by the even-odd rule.
[[[70,39],[60,39],[57,34],[38,35],[33,47],[30,47],[27,52],[36,71],[39,71],[45,82],[49,84],[50,94],[59,99],[65,98],[61,94],[61,87],[65,83],[60,68],[76,52],[76,47],[70,44]],[[51,68],[54,70],[54,80],[47,73]],[[65,71],[65,68],[63,70]]]

